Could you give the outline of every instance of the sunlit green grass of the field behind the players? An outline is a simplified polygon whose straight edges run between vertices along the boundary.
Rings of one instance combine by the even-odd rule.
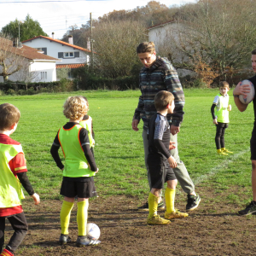
[[[240,113],[230,94],[230,127],[226,130],[226,148],[234,152],[218,156],[214,143],[215,126],[210,108],[218,90],[184,90],[185,115],[178,135],[181,160],[187,166],[195,184],[211,184],[218,189],[230,186],[247,189],[251,186],[249,141],[253,129],[253,103]],[[131,130],[131,119],[137,108],[139,90],[79,91],[35,96],[1,96],[20,108],[21,118],[12,137],[24,149],[29,177],[33,187],[43,198],[59,198],[61,171],[55,166],[49,148],[56,132],[67,119],[62,106],[67,96],[83,95],[90,103],[96,133],[96,187],[100,195],[131,195],[144,197],[148,181],[144,168],[142,127]],[[61,153],[61,150],[60,150]],[[237,196],[229,196],[237,201]]]

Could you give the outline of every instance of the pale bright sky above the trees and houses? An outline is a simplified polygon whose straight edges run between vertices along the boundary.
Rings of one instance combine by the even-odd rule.
[[[92,19],[120,9],[135,9],[145,6],[150,0],[0,0],[0,30],[15,19],[25,20],[30,15],[38,20],[44,32],[51,37],[61,39],[69,26],[81,26]],[[195,0],[156,0],[166,4],[181,5],[195,3]]]

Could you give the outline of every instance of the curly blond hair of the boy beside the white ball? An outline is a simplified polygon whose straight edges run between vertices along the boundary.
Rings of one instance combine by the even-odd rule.
[[[87,113],[87,102],[83,96],[70,96],[63,106],[63,113],[67,119],[77,120]]]

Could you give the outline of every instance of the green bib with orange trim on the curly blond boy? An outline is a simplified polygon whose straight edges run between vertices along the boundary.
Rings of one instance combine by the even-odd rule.
[[[90,171],[88,161],[84,156],[83,148],[79,141],[81,125],[74,125],[69,130],[61,127],[58,137],[65,157],[63,176],[65,177],[90,177],[95,172]]]

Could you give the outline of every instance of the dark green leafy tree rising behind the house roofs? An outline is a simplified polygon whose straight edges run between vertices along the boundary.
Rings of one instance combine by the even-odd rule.
[[[8,25],[3,26],[2,33],[9,35],[11,38],[19,38],[19,24],[20,24],[20,41],[38,37],[40,35],[48,37],[43,31],[37,20],[32,20],[30,15],[26,15],[24,22],[20,20],[10,21]]]

